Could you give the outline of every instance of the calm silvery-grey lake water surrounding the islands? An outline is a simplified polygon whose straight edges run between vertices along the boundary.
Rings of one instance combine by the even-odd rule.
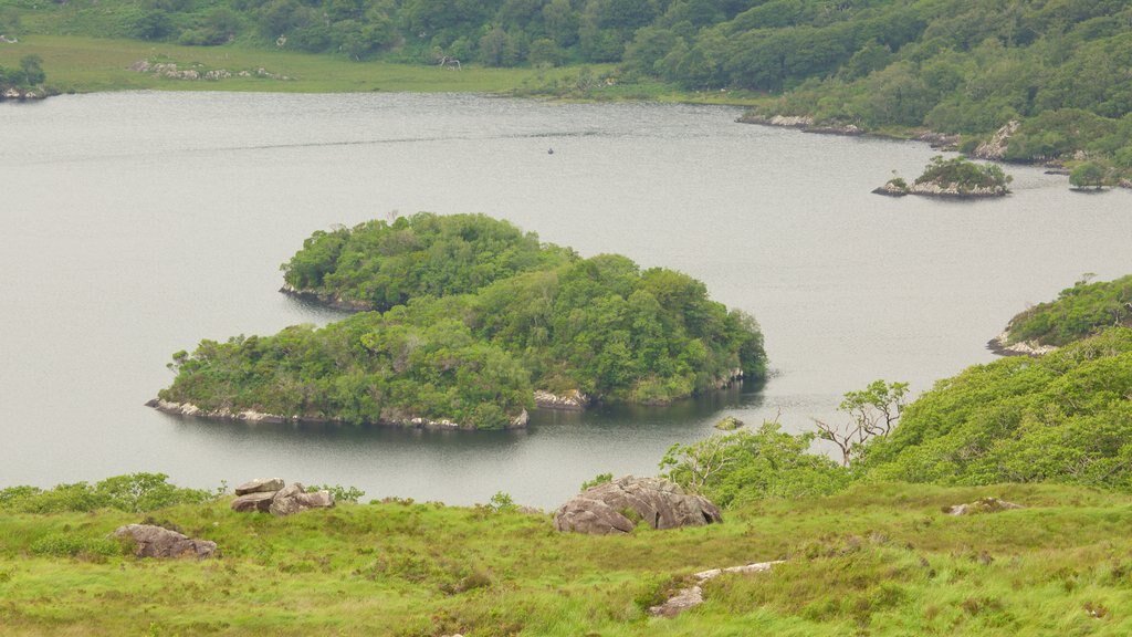
[[[993,357],[1028,303],[1132,272],[1132,197],[1011,168],[979,203],[871,195],[927,146],[735,124],[728,108],[469,95],[118,93],[0,108],[0,486],[163,472],[370,496],[554,507],[652,474],[734,414],[791,431],[884,377],[916,391]],[[554,154],[547,150],[552,147]],[[247,426],[143,404],[171,353],[336,314],[280,294],[317,229],[486,212],[626,254],[753,313],[774,377],[668,409],[538,414],[524,432]]]

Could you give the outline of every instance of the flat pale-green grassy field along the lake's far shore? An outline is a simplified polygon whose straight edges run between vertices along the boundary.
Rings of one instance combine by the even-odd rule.
[[[24,56],[43,58],[48,85],[60,92],[96,91],[258,91],[280,93],[466,92],[514,93],[566,99],[646,99],[669,102],[747,104],[755,95],[711,92],[685,93],[660,83],[602,83],[577,88],[578,67],[484,68],[474,65],[461,70],[435,66],[389,62],[351,62],[333,56],[225,46],[179,46],[136,40],[84,36],[25,35],[18,44],[0,45],[0,66],[16,67]],[[175,63],[179,69],[199,71],[265,69],[276,76],[231,77],[218,80],[171,79],[129,70],[135,62]],[[589,67],[593,76],[616,75],[610,65]]]

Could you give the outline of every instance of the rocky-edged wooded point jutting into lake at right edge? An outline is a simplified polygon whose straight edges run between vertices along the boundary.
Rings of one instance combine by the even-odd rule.
[[[1091,274],[1010,320],[1000,346],[1061,347],[1106,328],[1132,328],[1132,275],[1089,282]]]

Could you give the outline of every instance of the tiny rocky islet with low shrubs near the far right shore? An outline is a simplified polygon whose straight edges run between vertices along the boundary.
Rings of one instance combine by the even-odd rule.
[[[873,192],[894,197],[903,195],[952,198],[1002,197],[1010,194],[1007,185],[1011,181],[1013,177],[1003,172],[997,165],[979,164],[962,155],[952,159],[936,155],[911,186],[900,177],[894,177]]]

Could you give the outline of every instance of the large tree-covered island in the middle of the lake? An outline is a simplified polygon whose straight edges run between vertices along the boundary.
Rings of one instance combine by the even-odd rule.
[[[316,232],[288,280],[387,307],[321,329],[201,341],[154,405],[201,416],[521,426],[540,396],[666,404],[766,356],[754,318],[627,257],[580,258],[483,215]]]

